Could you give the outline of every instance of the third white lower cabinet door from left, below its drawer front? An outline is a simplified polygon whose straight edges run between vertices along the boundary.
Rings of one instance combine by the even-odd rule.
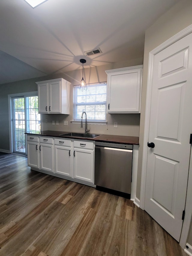
[[[70,147],[55,146],[55,173],[71,177]]]

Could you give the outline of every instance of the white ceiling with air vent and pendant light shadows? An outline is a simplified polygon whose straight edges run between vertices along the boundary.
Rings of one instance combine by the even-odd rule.
[[[142,58],[145,30],[177,2],[0,0],[0,84]]]

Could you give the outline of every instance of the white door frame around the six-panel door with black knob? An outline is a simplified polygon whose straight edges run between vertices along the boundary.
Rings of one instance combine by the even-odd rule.
[[[147,95],[146,95],[146,111],[145,111],[145,127],[144,127],[144,140],[143,140],[143,160],[142,160],[142,171],[141,171],[141,190],[140,190],[140,208],[144,210],[145,206],[145,189],[146,189],[146,173],[147,173],[147,158],[148,158],[148,147],[147,142],[149,138],[149,121],[150,121],[150,108],[151,108],[151,93],[152,93],[152,78],[153,78],[153,65],[154,56],[160,51],[164,50],[171,44],[175,43],[184,36],[192,33],[192,25],[183,29],[160,46],[156,47],[149,53],[149,68],[148,68],[148,79],[147,79]],[[184,248],[187,236],[190,228],[190,222],[192,217],[192,156],[190,156],[190,168],[189,178],[187,186],[187,197],[185,205],[185,218],[183,221],[182,233],[179,245]]]

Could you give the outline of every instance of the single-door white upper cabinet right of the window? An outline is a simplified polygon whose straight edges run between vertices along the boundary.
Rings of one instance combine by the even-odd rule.
[[[107,113],[140,113],[143,65],[107,73]]]

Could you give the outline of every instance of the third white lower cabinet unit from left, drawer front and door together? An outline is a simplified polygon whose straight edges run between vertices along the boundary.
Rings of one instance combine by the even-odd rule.
[[[71,154],[71,140],[55,139],[55,173],[72,176]]]

